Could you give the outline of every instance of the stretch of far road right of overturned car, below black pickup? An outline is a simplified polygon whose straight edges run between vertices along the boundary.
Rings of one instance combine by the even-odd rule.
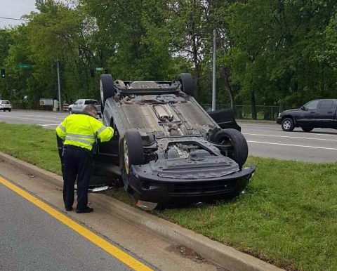
[[[293,132],[284,132],[277,124],[239,125],[250,155],[316,163],[337,161],[337,130],[315,128],[305,133],[295,128]]]

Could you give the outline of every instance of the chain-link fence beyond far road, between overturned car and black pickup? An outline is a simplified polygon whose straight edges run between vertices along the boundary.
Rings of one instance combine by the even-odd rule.
[[[202,104],[205,110],[211,110],[211,104]],[[228,109],[230,105],[216,105],[216,109]],[[291,109],[285,107],[284,110]],[[279,106],[256,105],[256,116],[259,120],[275,121],[279,115]],[[253,119],[251,114],[251,105],[235,105],[235,119]]]

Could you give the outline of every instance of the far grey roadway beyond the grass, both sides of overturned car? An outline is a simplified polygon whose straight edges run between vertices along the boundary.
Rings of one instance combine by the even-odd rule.
[[[13,110],[0,112],[0,121],[55,128],[66,116],[67,113]],[[337,161],[337,130],[315,128],[304,133],[296,128],[293,132],[284,132],[277,124],[239,124],[250,155],[310,162]]]

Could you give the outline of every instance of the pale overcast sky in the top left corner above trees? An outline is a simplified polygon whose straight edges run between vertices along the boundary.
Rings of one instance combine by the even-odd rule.
[[[0,0],[0,17],[18,18],[28,14],[35,9],[35,0]],[[19,20],[0,19],[0,28],[20,25]]]

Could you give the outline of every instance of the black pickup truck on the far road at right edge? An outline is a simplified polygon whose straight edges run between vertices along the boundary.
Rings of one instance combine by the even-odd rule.
[[[305,132],[313,128],[337,128],[337,99],[312,100],[298,109],[286,110],[279,114],[277,124],[283,131],[293,131],[295,127]]]

